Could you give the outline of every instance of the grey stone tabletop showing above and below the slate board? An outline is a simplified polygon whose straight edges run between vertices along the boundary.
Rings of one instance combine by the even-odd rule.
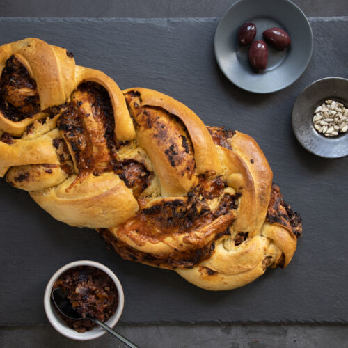
[[[1,1],[1,17],[221,17],[235,1]],[[347,0],[294,0],[308,17],[347,16]],[[348,33],[347,33],[348,34]],[[122,324],[141,347],[348,347],[346,324]],[[0,347],[124,347],[109,335],[75,342],[49,325],[0,326]]]

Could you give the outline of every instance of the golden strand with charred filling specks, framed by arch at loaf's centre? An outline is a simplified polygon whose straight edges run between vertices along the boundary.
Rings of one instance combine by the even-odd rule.
[[[161,196],[185,195],[198,178],[194,173],[193,147],[184,125],[164,109],[141,106],[139,92],[125,93],[125,97],[139,145],[148,153],[161,182]]]

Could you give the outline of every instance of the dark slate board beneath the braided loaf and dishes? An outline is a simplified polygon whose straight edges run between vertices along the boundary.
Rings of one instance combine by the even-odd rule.
[[[79,259],[103,262],[125,290],[122,322],[347,322],[348,157],[322,159],[292,134],[292,105],[316,79],[348,77],[348,20],[312,19],[312,61],[292,86],[254,95],[221,74],[214,60],[218,19],[0,19],[0,42],[36,36],[74,52],[121,88],[161,90],[207,125],[253,136],[288,203],[301,212],[304,237],[287,269],[269,269],[229,292],[200,290],[175,272],[121,260],[93,230],[52,219],[0,180],[0,323],[40,324],[49,277]]]

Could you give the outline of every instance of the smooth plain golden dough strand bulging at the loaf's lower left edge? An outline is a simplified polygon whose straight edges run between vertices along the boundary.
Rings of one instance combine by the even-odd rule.
[[[73,180],[74,175],[57,187],[31,191],[31,198],[54,219],[78,227],[116,226],[139,209],[132,190],[117,175],[90,175],[67,192]]]

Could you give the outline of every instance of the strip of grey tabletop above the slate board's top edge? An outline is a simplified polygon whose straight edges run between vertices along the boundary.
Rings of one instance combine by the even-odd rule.
[[[221,17],[237,0],[1,0],[3,17]],[[347,15],[346,0],[292,0],[307,16]]]

